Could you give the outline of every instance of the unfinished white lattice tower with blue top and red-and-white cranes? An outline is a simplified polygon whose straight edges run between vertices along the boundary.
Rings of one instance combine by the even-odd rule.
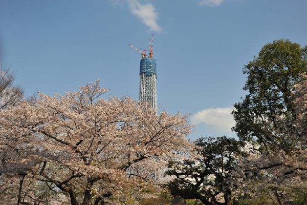
[[[132,48],[136,49],[142,55],[140,63],[140,92],[139,101],[147,102],[151,108],[157,109],[157,67],[156,59],[153,58],[153,34],[149,42],[149,56],[144,51],[137,49],[129,44]]]

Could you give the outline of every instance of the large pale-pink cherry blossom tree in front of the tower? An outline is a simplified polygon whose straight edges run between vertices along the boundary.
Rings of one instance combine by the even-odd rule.
[[[128,97],[106,100],[106,92],[96,81],[0,111],[7,203],[16,199],[9,176],[21,170],[28,172],[21,204],[99,204],[132,185],[137,193],[159,183],[167,161],[191,149],[187,116],[158,115]]]

